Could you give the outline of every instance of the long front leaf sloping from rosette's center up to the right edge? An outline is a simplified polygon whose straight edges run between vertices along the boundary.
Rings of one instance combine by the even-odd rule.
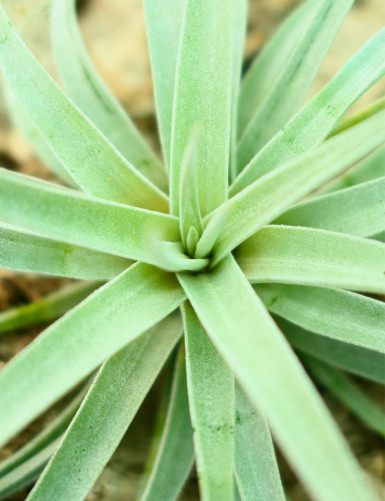
[[[385,111],[266,174],[214,211],[211,217],[227,209],[214,264],[293,203],[384,144],[384,121]]]

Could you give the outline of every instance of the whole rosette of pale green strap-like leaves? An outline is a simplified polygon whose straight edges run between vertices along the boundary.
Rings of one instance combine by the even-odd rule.
[[[341,118],[384,76],[385,30],[303,104],[352,4],[303,3],[241,80],[246,1],[145,0],[162,160],[73,0],[52,13],[65,92],[0,8],[13,118],[63,180],[1,169],[0,265],[83,280],[3,313],[68,310],[2,370],[1,444],[97,371],[0,465],[3,496],[50,458],[28,499],[84,499],[178,347],[140,499],[175,499],[194,458],[203,500],[284,499],[271,437],[313,499],[376,499],[308,375],[384,433],[349,376],[384,382],[384,100]]]

